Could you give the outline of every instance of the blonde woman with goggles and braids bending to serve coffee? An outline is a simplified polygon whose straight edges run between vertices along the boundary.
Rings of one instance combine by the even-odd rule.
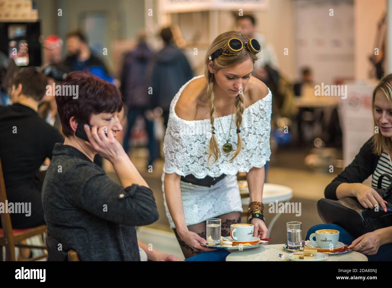
[[[247,173],[249,223],[267,236],[263,216],[264,165],[269,161],[272,94],[251,76],[260,43],[241,32],[212,41],[204,75],[181,87],[171,102],[163,143],[166,215],[185,258],[211,249],[208,218],[220,218],[222,236],[241,223],[238,172]]]

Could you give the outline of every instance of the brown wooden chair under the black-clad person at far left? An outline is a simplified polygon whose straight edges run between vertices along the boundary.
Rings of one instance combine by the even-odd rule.
[[[7,194],[5,193],[3,169],[0,160],[0,202],[4,203],[5,205],[6,200]],[[8,207],[6,207],[6,209],[7,208]],[[6,261],[16,261],[15,247],[46,250],[45,246],[20,244],[21,241],[24,241],[27,238],[44,234],[46,232],[46,225],[27,229],[12,229],[11,217],[9,216],[9,213],[0,213],[0,218],[3,227],[2,229],[0,228],[0,261],[3,261],[3,246],[5,247]],[[47,254],[34,257],[28,261],[36,261],[45,257],[47,257]]]

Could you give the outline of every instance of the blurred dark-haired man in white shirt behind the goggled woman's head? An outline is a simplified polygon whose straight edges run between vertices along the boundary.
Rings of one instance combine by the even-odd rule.
[[[247,35],[249,38],[255,38],[261,45],[259,59],[254,63],[254,76],[262,79],[262,69],[265,65],[269,65],[274,70],[278,69],[278,57],[274,48],[267,43],[263,35],[256,32],[256,21],[252,15],[237,16],[237,30]]]

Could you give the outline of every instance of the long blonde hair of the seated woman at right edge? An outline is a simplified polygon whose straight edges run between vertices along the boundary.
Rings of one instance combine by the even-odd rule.
[[[392,109],[392,73],[385,74],[376,88],[373,90],[373,98],[372,98],[372,115],[374,119],[374,100],[376,98],[376,93],[378,91],[383,92],[385,97],[387,97],[389,106]],[[373,120],[374,121],[374,120]],[[376,121],[374,121],[374,126],[377,126]],[[372,152],[376,155],[381,155],[383,151],[388,151],[388,153],[392,152],[392,141],[390,137],[385,137],[381,133],[375,133],[371,140],[372,144]]]

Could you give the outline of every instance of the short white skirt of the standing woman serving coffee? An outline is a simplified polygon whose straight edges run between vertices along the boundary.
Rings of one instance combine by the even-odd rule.
[[[174,229],[175,225],[166,203],[164,178],[165,173],[162,173],[163,202],[170,228]],[[226,213],[243,211],[236,175],[227,175],[211,187],[180,181],[180,188],[187,226],[198,224],[209,218],[215,218]]]

